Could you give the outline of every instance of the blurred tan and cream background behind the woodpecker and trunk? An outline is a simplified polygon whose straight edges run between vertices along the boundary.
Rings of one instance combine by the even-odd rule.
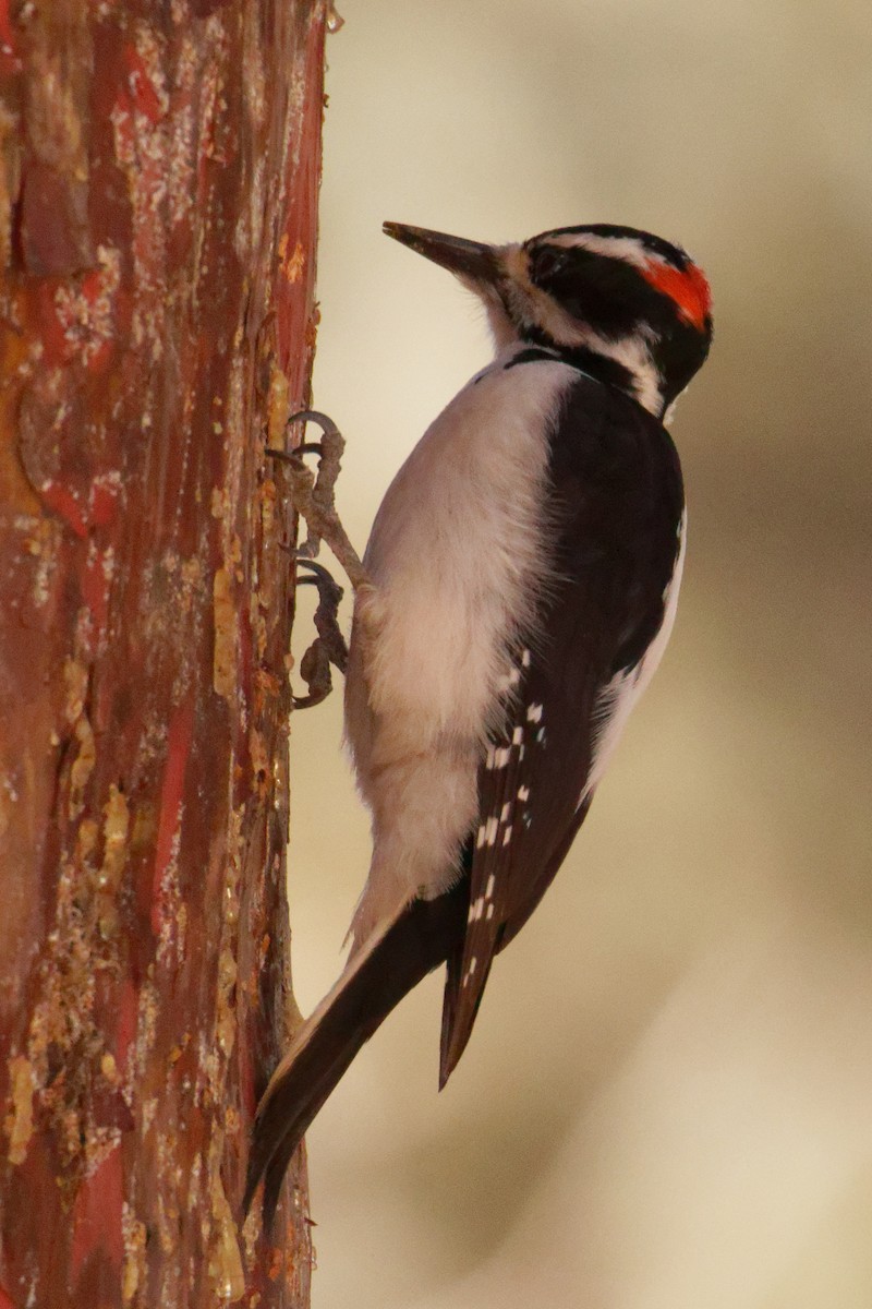
[[[349,437],[361,546],[489,352],[383,219],[650,228],[709,271],[716,340],[673,427],[690,538],[664,665],[447,1090],[431,978],[311,1131],[314,1304],[868,1309],[868,0],[340,8],[315,399]],[[305,1011],[367,867],[340,708],[294,721]]]

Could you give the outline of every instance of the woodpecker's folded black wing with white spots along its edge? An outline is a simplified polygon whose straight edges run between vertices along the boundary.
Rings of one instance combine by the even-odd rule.
[[[480,770],[442,1084],[469,1039],[493,956],[527,922],[584,819],[601,692],[639,665],[663,623],[684,511],[669,435],[622,393],[579,376],[552,433],[549,501],[557,581],[543,598],[543,639],[518,652],[509,721]]]

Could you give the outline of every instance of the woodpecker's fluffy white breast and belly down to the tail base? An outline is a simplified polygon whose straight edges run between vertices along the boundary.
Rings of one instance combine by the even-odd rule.
[[[458,876],[477,768],[501,717],[510,645],[548,572],[548,429],[575,378],[498,356],[448,404],[394,479],[365,555],[345,733],[373,813],[360,949],[413,895]]]

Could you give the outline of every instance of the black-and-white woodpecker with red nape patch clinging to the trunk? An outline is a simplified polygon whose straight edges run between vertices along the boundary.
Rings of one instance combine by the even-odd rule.
[[[397,473],[356,585],[345,734],[373,859],[345,969],[258,1109],[244,1207],[265,1174],[267,1221],[361,1045],[442,963],[444,1085],[494,956],[566,857],[672,628],[665,423],[711,342],[702,271],[647,232],[384,232],[482,301],[495,357]]]

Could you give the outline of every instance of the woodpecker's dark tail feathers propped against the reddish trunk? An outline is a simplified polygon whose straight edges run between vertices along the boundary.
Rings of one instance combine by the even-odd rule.
[[[463,940],[465,880],[433,901],[413,901],[349,959],[336,986],[302,1025],[258,1106],[243,1199],[260,1178],[268,1227],[285,1170],[333,1086],[403,996]]]

